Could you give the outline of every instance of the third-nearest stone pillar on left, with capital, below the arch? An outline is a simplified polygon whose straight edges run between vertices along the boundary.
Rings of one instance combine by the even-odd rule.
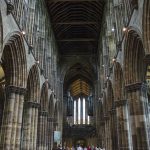
[[[47,150],[47,116],[48,112],[47,111],[41,111],[39,113],[39,128],[38,128],[38,143],[37,143],[37,149],[39,150]]]

